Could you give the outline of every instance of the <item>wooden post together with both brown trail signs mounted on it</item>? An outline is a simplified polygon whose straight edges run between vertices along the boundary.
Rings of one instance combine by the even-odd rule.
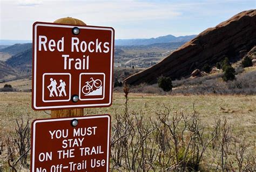
[[[113,47],[112,27],[33,24],[32,108],[56,119],[33,121],[30,171],[109,171],[110,115],[74,116],[111,106]]]

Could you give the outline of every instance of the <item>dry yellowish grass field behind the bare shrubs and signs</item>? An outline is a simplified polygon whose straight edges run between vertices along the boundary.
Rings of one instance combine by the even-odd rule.
[[[203,123],[214,125],[215,118],[226,118],[233,126],[233,133],[248,135],[248,141],[256,140],[256,96],[255,95],[153,95],[129,94],[129,111],[142,112],[145,119],[155,118],[156,113],[163,111],[164,106],[170,106],[172,111],[193,113],[193,104]],[[107,108],[87,108],[85,114],[124,113],[124,93],[113,94],[113,105]],[[33,111],[31,108],[31,93],[1,92],[0,93],[0,142],[6,135],[14,132],[15,120],[20,116],[31,121],[34,119],[50,118],[50,111]],[[114,123],[114,121],[112,121]],[[255,148],[254,148],[255,154]],[[3,155],[1,155],[3,156]],[[3,160],[3,157],[1,157]]]

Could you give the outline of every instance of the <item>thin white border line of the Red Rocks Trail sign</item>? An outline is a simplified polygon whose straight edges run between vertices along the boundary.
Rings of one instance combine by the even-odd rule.
[[[107,104],[83,104],[83,105],[64,105],[64,106],[36,106],[36,63],[37,63],[37,27],[49,26],[49,27],[66,27],[73,28],[73,25],[55,25],[46,23],[37,23],[34,26],[34,68],[33,68],[33,107],[35,109],[58,109],[58,108],[75,108],[75,107],[93,107],[93,106],[109,106],[112,100],[112,75],[113,75],[113,43],[114,43],[114,30],[111,27],[93,27],[93,26],[78,26],[79,29],[94,29],[94,30],[108,30],[111,31],[111,57],[110,57],[110,91],[109,102]]]

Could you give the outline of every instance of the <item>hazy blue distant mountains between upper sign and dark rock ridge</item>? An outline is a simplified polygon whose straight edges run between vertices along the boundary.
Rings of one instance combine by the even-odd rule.
[[[150,45],[156,43],[177,43],[177,42],[188,42],[189,40],[195,38],[197,35],[189,35],[189,36],[173,36],[166,35],[157,38],[150,39],[116,39],[115,45]]]

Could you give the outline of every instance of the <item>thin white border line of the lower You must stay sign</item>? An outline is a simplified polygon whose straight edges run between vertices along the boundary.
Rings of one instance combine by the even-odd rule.
[[[60,118],[60,119],[45,119],[36,120],[33,122],[33,145],[32,145],[32,172],[35,172],[35,142],[36,142],[36,124],[40,122],[53,122],[53,121],[68,121],[73,119],[95,119],[95,118],[107,118],[107,157],[106,157],[106,172],[109,171],[109,146],[110,146],[110,115],[97,115],[97,116],[83,116],[83,117],[73,117],[73,118]],[[79,122],[79,121],[78,121]]]

